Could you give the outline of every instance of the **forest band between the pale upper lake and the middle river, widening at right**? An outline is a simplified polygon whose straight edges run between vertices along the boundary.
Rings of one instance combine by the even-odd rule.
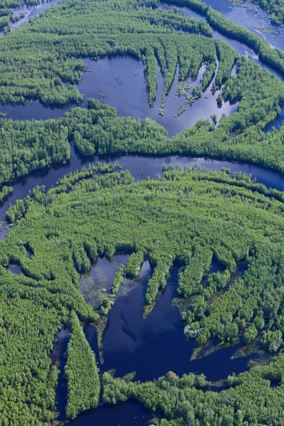
[[[234,50],[227,50],[224,43],[219,48],[225,55],[224,61],[219,62],[214,84],[218,76],[228,73],[234,61]],[[227,52],[233,53],[229,62]],[[116,109],[94,99],[89,99],[88,109],[72,109],[58,120],[0,119],[0,183],[70,159],[72,140],[82,155],[207,155],[283,171],[283,126],[278,131],[265,132],[284,102],[283,82],[241,57],[236,62],[236,75],[230,75],[222,85],[223,100],[239,102],[239,110],[222,116],[217,125],[208,120],[197,121],[173,138],[168,138],[163,126],[151,119],[118,117]]]

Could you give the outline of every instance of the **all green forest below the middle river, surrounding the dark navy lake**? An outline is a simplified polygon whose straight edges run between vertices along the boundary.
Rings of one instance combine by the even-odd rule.
[[[155,303],[170,268],[178,264],[187,338],[200,345],[257,339],[264,351],[278,354],[284,332],[284,193],[248,175],[228,173],[169,169],[157,180],[134,183],[118,165],[98,164],[67,175],[47,193],[35,187],[9,209],[8,219],[18,220],[0,244],[2,424],[30,425],[33,419],[43,425],[55,416],[58,373],[48,354],[62,327],[72,332],[67,415],[97,405],[97,368],[78,322],[105,315],[100,307],[92,311],[79,291],[80,273],[89,271],[97,256],[133,253],[126,266],[131,276],[148,259],[154,272],[146,304]],[[223,272],[208,275],[213,258]],[[244,274],[231,279],[242,262]],[[9,271],[11,263],[22,273]],[[123,275],[121,266],[104,295],[110,307]],[[92,374],[82,381],[84,371]],[[179,381],[170,373],[141,385],[104,376],[104,383],[111,382],[104,384],[104,398],[111,403],[136,398],[168,420],[182,417],[182,425],[187,417],[195,419],[193,425],[219,425],[222,419],[226,425],[271,419],[282,425],[282,377],[283,356],[268,367],[229,377],[223,393],[200,391],[208,384],[204,376]]]

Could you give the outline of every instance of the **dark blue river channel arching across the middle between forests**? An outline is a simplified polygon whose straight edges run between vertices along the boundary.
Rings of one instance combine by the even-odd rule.
[[[221,170],[222,167],[230,168],[231,173],[241,171],[243,173],[251,174],[258,182],[263,183],[268,188],[273,187],[277,190],[284,190],[284,174],[261,168],[256,165],[240,164],[230,161],[212,160],[206,158],[191,158],[179,155],[169,155],[163,157],[145,157],[142,155],[103,155],[98,157],[85,157],[77,153],[73,144],[71,144],[71,159],[67,163],[58,163],[47,166],[40,170],[35,170],[23,178],[16,179],[12,182],[13,193],[5,197],[0,203],[0,221],[5,221],[6,210],[9,209],[10,204],[16,200],[22,199],[28,195],[28,191],[35,185],[45,185],[45,189],[49,190],[57,184],[58,180],[66,173],[80,170],[83,166],[89,163],[97,163],[97,161],[104,161],[106,163],[114,163],[118,161],[124,168],[130,170],[135,180],[143,180],[149,176],[155,179],[157,173],[162,173],[163,164],[180,165],[183,168],[185,165],[193,166],[197,163],[200,166],[205,166],[208,170]],[[4,239],[6,235],[6,227],[2,226],[0,232],[0,240]]]

